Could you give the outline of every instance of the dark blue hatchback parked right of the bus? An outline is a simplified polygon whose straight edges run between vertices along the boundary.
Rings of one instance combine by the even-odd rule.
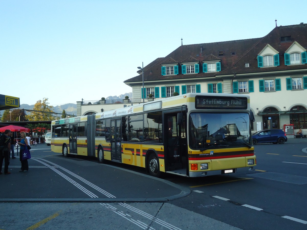
[[[288,138],[281,129],[266,129],[261,130],[252,135],[253,145],[257,143],[273,143],[284,144]]]

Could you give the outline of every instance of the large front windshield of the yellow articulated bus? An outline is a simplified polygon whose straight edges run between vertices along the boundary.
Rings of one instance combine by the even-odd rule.
[[[212,148],[251,148],[248,113],[191,113],[189,146],[204,151]]]

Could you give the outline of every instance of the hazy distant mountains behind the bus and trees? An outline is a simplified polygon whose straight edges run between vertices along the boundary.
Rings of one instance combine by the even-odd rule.
[[[106,100],[115,100],[115,99],[125,99],[125,96],[128,96],[129,98],[132,97],[132,93],[126,93],[126,94],[121,94],[119,96],[109,96],[106,98]],[[101,98],[97,99],[99,101]],[[95,101],[95,100],[93,100]],[[28,105],[28,104],[21,104],[19,109],[29,109],[33,110],[34,105]],[[77,115],[77,104],[74,103],[68,103],[64,105],[57,105],[53,106],[53,111],[55,113],[62,113],[63,109],[65,109],[66,114],[70,115]],[[26,112],[29,114],[29,112]],[[60,114],[58,114],[60,116]]]

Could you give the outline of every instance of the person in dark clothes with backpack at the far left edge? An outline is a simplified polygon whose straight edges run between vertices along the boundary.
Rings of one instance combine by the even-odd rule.
[[[0,174],[2,174],[2,163],[4,159],[4,174],[11,174],[9,172],[9,164],[10,164],[10,149],[11,149],[11,131],[10,129],[6,129],[4,134],[0,137]]]

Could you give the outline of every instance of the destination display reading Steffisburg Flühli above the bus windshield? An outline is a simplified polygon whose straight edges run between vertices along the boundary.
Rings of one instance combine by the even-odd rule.
[[[196,109],[247,109],[247,98],[196,96]]]

